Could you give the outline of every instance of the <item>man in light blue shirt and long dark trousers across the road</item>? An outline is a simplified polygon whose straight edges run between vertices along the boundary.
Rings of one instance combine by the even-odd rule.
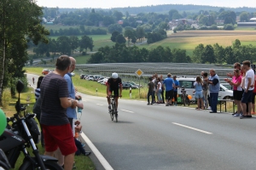
[[[211,99],[211,108],[210,113],[217,113],[217,104],[218,104],[218,91],[219,91],[219,78],[214,69],[210,70],[210,75],[208,80],[210,99]]]

